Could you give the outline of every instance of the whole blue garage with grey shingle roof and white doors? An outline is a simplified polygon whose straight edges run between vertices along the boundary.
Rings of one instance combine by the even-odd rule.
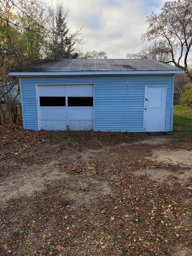
[[[174,74],[149,59],[42,60],[19,76],[24,129],[172,131]]]

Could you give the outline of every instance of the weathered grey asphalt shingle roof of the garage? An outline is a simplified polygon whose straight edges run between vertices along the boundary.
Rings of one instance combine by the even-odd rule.
[[[64,59],[42,60],[12,72],[76,72],[76,71],[149,71],[180,70],[180,68],[150,59]]]

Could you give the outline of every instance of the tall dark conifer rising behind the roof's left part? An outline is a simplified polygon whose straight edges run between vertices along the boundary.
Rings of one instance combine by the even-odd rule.
[[[50,33],[48,58],[76,58],[76,51],[82,46],[82,28],[71,32],[68,28],[69,10],[62,3],[50,8]]]

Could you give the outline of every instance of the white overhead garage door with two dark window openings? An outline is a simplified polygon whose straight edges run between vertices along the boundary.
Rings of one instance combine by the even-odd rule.
[[[40,129],[93,129],[93,95],[93,84],[38,85]]]

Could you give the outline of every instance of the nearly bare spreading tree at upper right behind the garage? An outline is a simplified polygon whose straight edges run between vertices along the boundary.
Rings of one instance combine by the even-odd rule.
[[[186,76],[192,81],[192,75],[188,70],[192,46],[192,1],[165,2],[161,12],[152,12],[146,23],[148,29],[142,39],[148,42],[158,40],[162,45],[166,42],[164,50],[170,55],[170,60],[166,63],[183,68]]]

